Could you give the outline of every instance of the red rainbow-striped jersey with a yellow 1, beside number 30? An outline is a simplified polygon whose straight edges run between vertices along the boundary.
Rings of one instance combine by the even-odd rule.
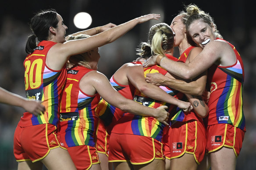
[[[95,108],[100,95],[85,94],[79,87],[82,77],[92,71],[83,66],[68,69],[67,83],[63,89],[60,107],[60,135],[66,146],[89,145],[95,147],[94,135],[98,118]]]

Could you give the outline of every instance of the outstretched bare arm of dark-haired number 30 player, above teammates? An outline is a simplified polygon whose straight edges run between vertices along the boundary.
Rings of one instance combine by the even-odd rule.
[[[101,47],[108,43],[114,42],[117,38],[121,37],[135,25],[149,21],[151,19],[158,20],[159,14],[148,14],[141,17],[137,17],[124,24],[120,24],[114,28],[110,28],[97,35],[93,35],[89,38],[71,40],[68,42],[58,43],[53,45],[49,50],[46,58],[46,64],[51,69],[60,70],[68,61],[68,57],[87,52],[89,50]]]

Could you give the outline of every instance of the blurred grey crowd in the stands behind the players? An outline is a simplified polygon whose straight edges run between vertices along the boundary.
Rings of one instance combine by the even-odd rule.
[[[237,170],[255,170],[256,28],[249,30],[237,28],[232,32],[220,30],[220,33],[238,49],[245,67],[243,107],[247,132],[238,157]],[[30,34],[27,24],[12,17],[4,17],[0,27],[0,87],[23,97],[25,97],[23,61],[26,56],[25,44]],[[130,31],[116,42],[101,47],[98,70],[110,78],[122,64],[136,59],[137,45],[139,45],[138,35]],[[17,169],[13,155],[13,135],[23,112],[22,108],[0,104],[0,170]]]

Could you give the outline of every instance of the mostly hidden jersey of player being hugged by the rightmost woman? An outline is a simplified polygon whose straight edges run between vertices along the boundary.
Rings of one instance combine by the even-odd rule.
[[[195,47],[193,47],[193,46],[188,47],[188,49],[186,49],[181,54],[181,56],[179,57],[178,60],[181,61],[181,62],[186,62],[186,60],[188,58],[188,54],[193,48],[195,48]],[[187,97],[184,97],[181,100],[182,101],[188,101]],[[201,119],[201,118],[199,118],[195,112],[193,112],[193,111],[184,112],[182,109],[177,108],[176,109],[176,114],[171,118],[171,122],[174,122],[174,121],[189,121],[189,120],[198,120],[199,121],[199,119]]]

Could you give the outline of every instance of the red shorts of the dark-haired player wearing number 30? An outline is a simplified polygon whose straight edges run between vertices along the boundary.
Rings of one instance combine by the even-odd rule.
[[[56,126],[42,124],[21,127],[17,125],[14,132],[14,156],[20,161],[36,162],[45,158],[50,149],[61,147],[64,143],[55,134]]]

